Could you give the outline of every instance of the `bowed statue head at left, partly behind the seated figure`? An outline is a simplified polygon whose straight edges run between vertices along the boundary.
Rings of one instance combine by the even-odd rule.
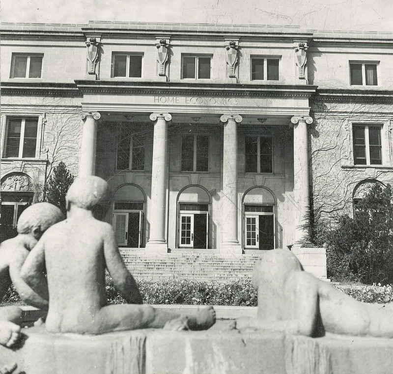
[[[32,234],[39,240],[49,227],[64,219],[55,205],[49,203],[37,203],[26,208],[18,219],[18,234]]]

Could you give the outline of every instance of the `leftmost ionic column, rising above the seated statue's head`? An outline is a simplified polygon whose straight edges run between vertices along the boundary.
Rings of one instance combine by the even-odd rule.
[[[79,116],[84,121],[79,176],[87,177],[95,174],[97,120],[100,119],[101,114],[98,112],[82,112],[79,113]]]

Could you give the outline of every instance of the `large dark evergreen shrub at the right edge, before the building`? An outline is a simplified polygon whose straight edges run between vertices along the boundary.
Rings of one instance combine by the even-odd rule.
[[[365,284],[393,283],[392,187],[375,184],[357,205],[354,217],[340,217],[329,242],[348,270]]]

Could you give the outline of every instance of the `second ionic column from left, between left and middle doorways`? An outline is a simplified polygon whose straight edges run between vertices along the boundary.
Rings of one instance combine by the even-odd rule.
[[[153,165],[151,171],[151,203],[149,212],[150,235],[146,243],[146,252],[168,251],[165,239],[165,221],[167,212],[167,175],[168,175],[168,122],[172,116],[168,113],[152,113],[154,122]]]

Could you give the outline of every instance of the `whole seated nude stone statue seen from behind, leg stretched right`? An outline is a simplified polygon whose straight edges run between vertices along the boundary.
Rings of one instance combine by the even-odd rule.
[[[21,276],[37,289],[49,290],[46,329],[53,333],[102,334],[140,328],[207,329],[216,321],[207,307],[192,316],[168,313],[142,304],[138,286],[121,259],[109,223],[92,215],[107,193],[99,177],[78,178],[66,196],[67,219],[52,226],[30,252]],[[128,304],[107,305],[105,268]]]

